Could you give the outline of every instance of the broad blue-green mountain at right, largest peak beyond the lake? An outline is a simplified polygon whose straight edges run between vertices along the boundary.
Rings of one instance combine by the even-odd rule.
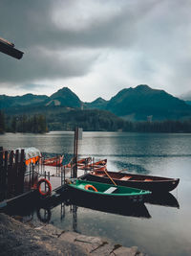
[[[106,109],[125,119],[146,120],[153,116],[153,120],[165,120],[190,116],[191,107],[164,90],[138,85],[119,91]]]

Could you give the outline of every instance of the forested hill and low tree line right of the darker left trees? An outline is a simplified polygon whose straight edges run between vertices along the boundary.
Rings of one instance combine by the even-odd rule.
[[[186,121],[130,122],[103,110],[72,110],[47,117],[50,130],[132,131],[132,132],[191,132],[191,119]]]

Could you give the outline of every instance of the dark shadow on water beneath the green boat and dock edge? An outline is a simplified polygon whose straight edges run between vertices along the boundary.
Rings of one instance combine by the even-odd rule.
[[[123,200],[121,203],[121,201],[117,199],[113,200],[112,202],[108,201],[107,199],[84,199],[78,197],[77,195],[73,197],[74,194],[71,194],[70,191],[62,191],[60,189],[60,191],[58,192],[58,194],[51,198],[32,198],[30,201],[27,201],[25,203],[25,207],[23,207],[23,203],[17,204],[17,207],[15,207],[15,205],[10,205],[9,207],[6,207],[4,212],[10,215],[30,216],[36,211],[38,216],[38,213],[40,215],[41,209],[44,209],[46,213],[50,214],[51,209],[59,205],[61,206],[61,204],[64,203],[64,205],[66,206],[74,205],[122,216],[146,219],[151,218],[151,215],[149,214],[148,209],[143,202],[134,202],[127,200],[126,203],[124,203]],[[50,217],[48,218],[48,220],[50,221]]]

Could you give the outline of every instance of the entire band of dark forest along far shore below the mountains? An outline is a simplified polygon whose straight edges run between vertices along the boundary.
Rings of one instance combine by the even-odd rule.
[[[74,127],[85,131],[129,131],[129,132],[191,132],[191,119],[185,121],[144,121],[130,122],[111,115],[103,110],[73,110],[56,115],[42,114],[9,115],[0,110],[0,133],[32,132],[43,133],[49,130],[74,130]]]

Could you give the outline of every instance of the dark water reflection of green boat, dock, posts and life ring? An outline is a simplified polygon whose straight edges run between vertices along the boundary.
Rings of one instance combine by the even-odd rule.
[[[71,198],[69,193],[64,193],[62,196],[57,198],[39,199],[38,201],[31,201],[26,207],[7,207],[6,212],[13,216],[34,216],[34,212],[39,221],[50,222],[52,217],[52,209],[54,207],[60,208],[60,220],[65,217],[65,207],[70,208],[70,212],[74,216],[74,226],[76,226],[76,215],[77,208],[83,207],[91,210],[96,210],[104,213],[130,216],[137,218],[151,218],[148,209],[143,202],[133,202],[127,201],[127,203],[121,204],[120,201],[114,201],[113,204],[109,203],[107,200],[102,200],[96,202],[95,200],[90,200],[84,198]]]

